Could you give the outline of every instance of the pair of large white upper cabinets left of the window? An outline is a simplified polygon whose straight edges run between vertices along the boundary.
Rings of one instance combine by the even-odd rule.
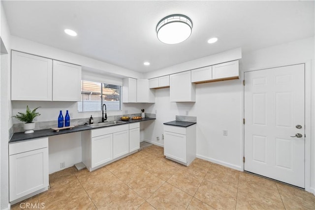
[[[17,51],[11,55],[11,100],[81,100],[81,66]]]

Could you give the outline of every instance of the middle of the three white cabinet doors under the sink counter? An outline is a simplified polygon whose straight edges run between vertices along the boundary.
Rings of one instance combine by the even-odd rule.
[[[113,158],[129,152],[129,130],[113,133]]]

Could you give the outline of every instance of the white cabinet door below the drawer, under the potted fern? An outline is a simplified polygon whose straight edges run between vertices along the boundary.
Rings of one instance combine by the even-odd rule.
[[[10,202],[48,186],[48,148],[9,156]]]

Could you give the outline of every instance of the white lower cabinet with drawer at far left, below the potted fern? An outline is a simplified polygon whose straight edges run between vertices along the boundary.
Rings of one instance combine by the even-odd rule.
[[[11,204],[48,189],[48,138],[9,144]]]

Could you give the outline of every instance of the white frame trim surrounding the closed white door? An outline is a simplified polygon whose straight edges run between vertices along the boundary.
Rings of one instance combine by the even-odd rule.
[[[312,111],[312,60],[302,61],[302,62],[294,62],[294,63],[282,63],[282,64],[274,64],[274,65],[266,65],[261,67],[255,67],[253,69],[243,70],[241,72],[241,81],[245,79],[245,72],[264,70],[270,68],[283,67],[288,65],[296,65],[296,64],[305,64],[305,170],[304,170],[304,180],[305,180],[305,190],[315,194],[315,188],[311,187],[311,121],[314,120],[311,117]],[[246,82],[245,82],[246,85]],[[243,86],[243,94],[242,94],[242,117],[245,118],[245,87]],[[315,141],[314,141],[315,143]],[[244,145],[245,145],[245,126],[243,124],[242,119],[242,156],[240,157],[243,160],[244,157]],[[314,148],[315,150],[315,148]],[[242,171],[244,171],[244,162],[241,165]]]

